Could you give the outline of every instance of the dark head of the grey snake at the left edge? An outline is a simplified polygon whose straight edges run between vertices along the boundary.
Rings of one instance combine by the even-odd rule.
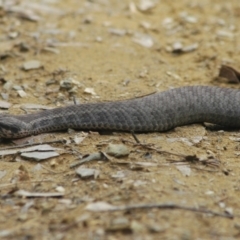
[[[0,115],[0,138],[21,138],[27,134],[27,124],[13,115]]]

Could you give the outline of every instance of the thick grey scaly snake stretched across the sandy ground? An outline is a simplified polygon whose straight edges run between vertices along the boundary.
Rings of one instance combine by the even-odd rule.
[[[0,137],[66,129],[164,132],[192,123],[240,128],[240,91],[186,86],[129,100],[83,103],[23,115],[0,115]]]

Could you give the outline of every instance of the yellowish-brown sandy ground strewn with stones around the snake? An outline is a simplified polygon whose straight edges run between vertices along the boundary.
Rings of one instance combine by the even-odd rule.
[[[238,88],[215,80],[222,64],[240,68],[238,0],[3,2],[1,97],[12,106],[2,112],[24,114],[24,104],[129,99],[188,85]],[[24,70],[31,60],[41,67]],[[83,141],[74,142],[76,137]],[[238,239],[239,137],[238,131],[202,125],[138,134],[141,143],[152,144],[149,149],[134,145],[129,133],[41,135],[40,142],[67,140],[50,144],[62,149],[58,157],[38,163],[20,153],[2,156],[0,238]],[[127,157],[81,166],[98,170],[97,176],[81,178],[69,168],[80,156],[123,139]],[[2,142],[1,149],[23,143]],[[28,198],[19,190],[63,196]],[[162,208],[86,209],[98,202],[100,209],[103,203]],[[170,203],[176,209],[167,208]]]

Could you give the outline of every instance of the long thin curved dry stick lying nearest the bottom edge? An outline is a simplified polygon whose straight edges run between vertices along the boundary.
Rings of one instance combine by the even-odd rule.
[[[186,210],[191,212],[199,212],[199,213],[206,213],[211,214],[218,217],[225,217],[225,218],[234,218],[234,215],[227,214],[227,213],[218,213],[214,212],[208,209],[198,209],[194,207],[185,207],[180,206],[174,203],[166,203],[166,204],[160,204],[160,203],[153,203],[153,204],[135,204],[135,205],[127,205],[127,206],[113,206],[112,208],[106,210],[109,212],[115,212],[115,211],[130,211],[135,209],[151,209],[151,208],[159,208],[159,209],[179,209],[179,210]],[[105,210],[103,210],[105,211]]]

